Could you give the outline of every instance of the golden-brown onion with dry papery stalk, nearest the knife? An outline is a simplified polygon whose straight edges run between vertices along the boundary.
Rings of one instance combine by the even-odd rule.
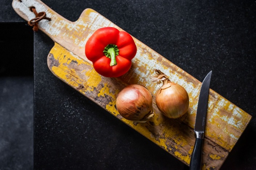
[[[152,81],[163,83],[157,90],[155,102],[158,109],[168,118],[179,118],[188,110],[189,98],[186,89],[181,85],[171,82],[160,70],[154,69]]]

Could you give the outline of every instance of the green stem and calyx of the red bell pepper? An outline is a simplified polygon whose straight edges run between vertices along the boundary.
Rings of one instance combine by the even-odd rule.
[[[105,48],[103,53],[107,58],[110,58],[110,66],[117,65],[117,61],[115,59],[115,56],[119,55],[119,50],[116,45],[114,44],[108,44]]]

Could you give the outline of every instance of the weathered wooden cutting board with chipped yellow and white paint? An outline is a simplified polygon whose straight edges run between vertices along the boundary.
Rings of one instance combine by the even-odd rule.
[[[31,6],[37,12],[46,12],[46,16],[51,18],[51,21],[40,21],[38,27],[55,42],[47,62],[56,77],[189,166],[195,142],[193,129],[202,84],[200,81],[134,37],[138,51],[130,71],[118,78],[100,76],[85,56],[85,43],[101,27],[121,28],[93,9],[85,9],[77,21],[71,22],[39,0],[13,0],[12,6],[26,21],[35,18],[35,14],[29,10]],[[168,119],[157,109],[155,94],[158,86],[151,82],[153,69],[160,69],[171,81],[187,90],[190,106],[182,118]],[[146,86],[151,92],[155,116],[149,122],[134,124],[119,115],[115,107],[116,95],[128,84]],[[220,169],[250,120],[249,114],[210,89],[203,169]]]

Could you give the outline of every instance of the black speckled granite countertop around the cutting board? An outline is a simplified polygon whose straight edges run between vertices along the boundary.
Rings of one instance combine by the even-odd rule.
[[[212,70],[211,89],[252,115],[221,169],[256,168],[255,1],[43,2],[70,21],[96,10],[200,81]],[[23,21],[8,3],[5,21]],[[52,47],[34,33],[35,169],[188,169],[55,77],[46,63]]]

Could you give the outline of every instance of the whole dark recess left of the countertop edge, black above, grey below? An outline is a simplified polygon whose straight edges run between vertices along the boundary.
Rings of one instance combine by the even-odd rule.
[[[33,31],[0,21],[0,170],[32,170]]]

